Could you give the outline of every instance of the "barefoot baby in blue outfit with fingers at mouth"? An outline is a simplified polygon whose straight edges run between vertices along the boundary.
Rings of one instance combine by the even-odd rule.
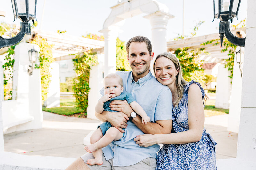
[[[109,104],[113,100],[126,100],[138,115],[142,118],[142,123],[147,124],[150,118],[147,116],[143,108],[135,101],[132,95],[128,92],[121,94],[124,90],[123,80],[117,74],[109,74],[104,78],[104,96],[98,101],[95,111],[101,113],[103,110],[117,112],[111,110]],[[123,129],[125,130],[125,129]],[[92,153],[94,159],[88,159],[89,165],[102,165],[102,150],[101,148],[108,146],[112,141],[117,141],[124,136],[124,133],[113,127],[109,122],[104,122],[98,126],[98,129],[92,134],[90,138],[91,145],[85,146],[84,149]]]

